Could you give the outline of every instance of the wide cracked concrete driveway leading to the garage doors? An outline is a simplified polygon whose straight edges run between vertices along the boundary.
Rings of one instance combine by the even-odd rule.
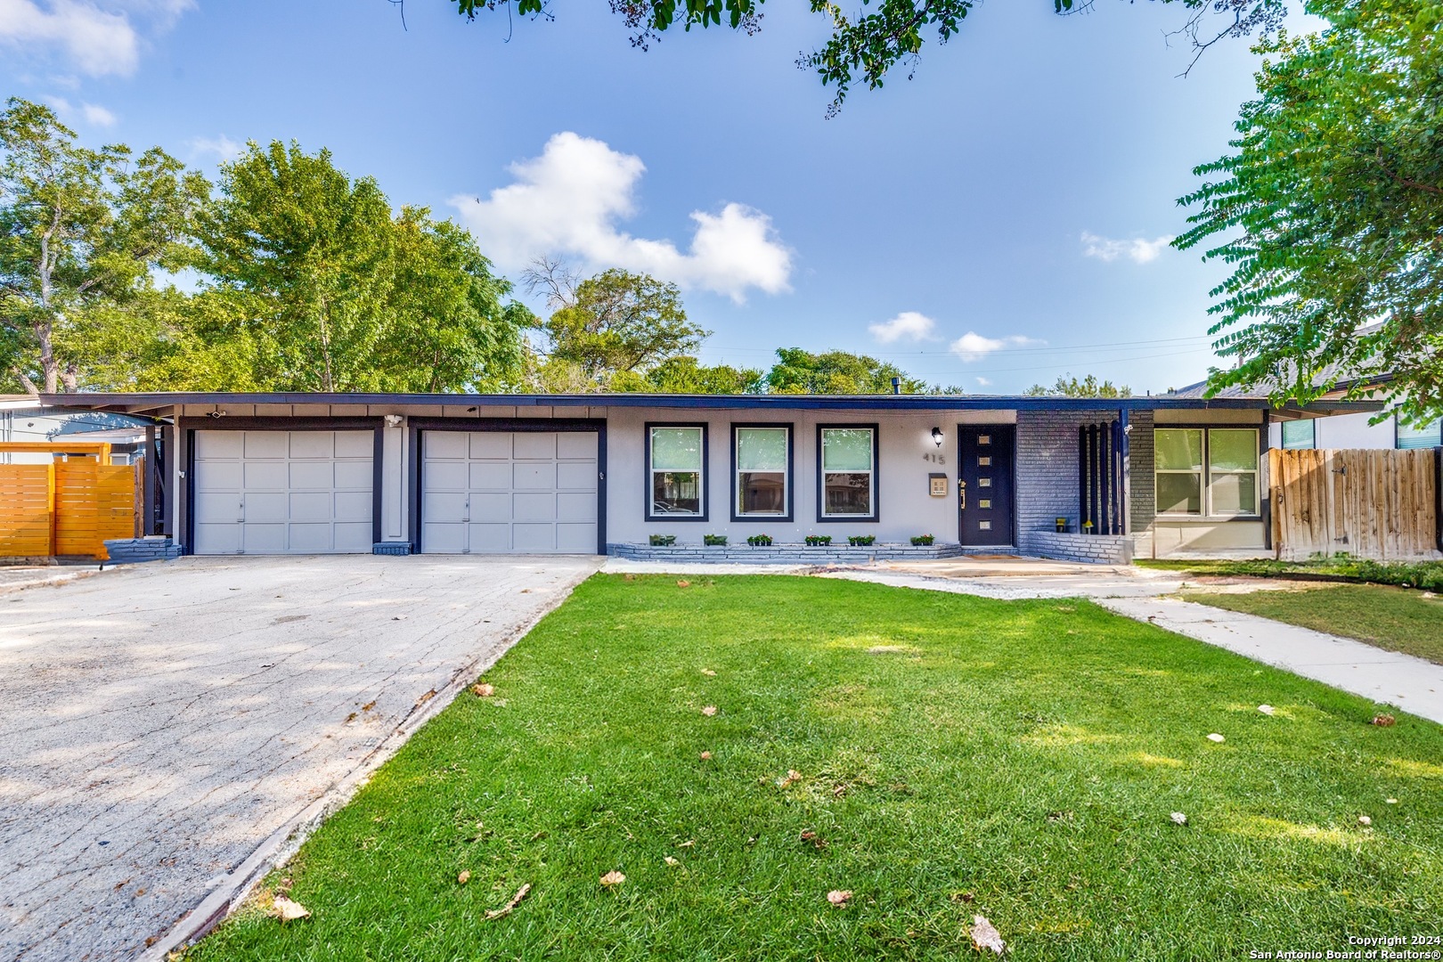
[[[0,959],[163,949],[599,562],[183,558],[0,594]]]

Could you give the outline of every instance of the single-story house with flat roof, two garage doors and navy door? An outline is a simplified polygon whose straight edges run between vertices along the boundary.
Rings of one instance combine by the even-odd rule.
[[[1091,561],[1268,550],[1270,424],[1377,404],[984,395],[68,394],[160,424],[186,554],[772,554]],[[162,534],[162,532],[157,532]],[[918,550],[922,551],[922,550]],[[716,555],[713,555],[716,557]],[[756,557],[762,557],[758,554]]]

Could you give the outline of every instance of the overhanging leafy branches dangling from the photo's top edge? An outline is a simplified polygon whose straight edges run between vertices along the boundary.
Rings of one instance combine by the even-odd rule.
[[[505,9],[518,17],[553,19],[547,0],[455,0],[456,10],[475,20],[483,10]],[[762,29],[765,0],[610,0],[612,12],[622,16],[632,32],[632,46],[648,49],[670,29],[720,27],[747,36]],[[937,43],[947,43],[973,10],[977,0],[863,0],[869,12],[848,16],[835,0],[808,0],[811,12],[827,19],[831,36],[818,50],[801,53],[797,66],[815,71],[824,85],[835,91],[827,115],[835,115],[854,82],[870,89],[883,85],[887,72],[908,66],[908,78],[921,61],[928,33]],[[1198,53],[1227,36],[1277,29],[1286,13],[1284,0],[1162,0],[1182,3],[1188,16],[1177,33],[1186,35]],[[1056,13],[1072,13],[1092,6],[1092,0],[1052,0]],[[1209,19],[1218,14],[1218,20]],[[1209,26],[1216,26],[1209,33]]]

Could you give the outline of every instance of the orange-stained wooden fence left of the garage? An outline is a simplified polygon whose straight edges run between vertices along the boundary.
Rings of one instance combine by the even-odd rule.
[[[16,450],[17,443],[0,450]],[[74,454],[76,446],[45,446]],[[136,499],[144,460],[111,464],[110,446],[95,456],[49,464],[0,464],[0,555],[71,555],[105,560],[107,538],[136,538]],[[29,444],[23,450],[42,450]]]

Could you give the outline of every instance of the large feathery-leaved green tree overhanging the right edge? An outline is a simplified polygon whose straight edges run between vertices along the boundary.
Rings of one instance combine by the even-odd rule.
[[[1443,411],[1443,7],[1430,0],[1309,6],[1330,26],[1263,43],[1258,97],[1235,153],[1196,169],[1180,203],[1234,267],[1211,333],[1228,371],[1209,391],[1312,401],[1349,382],[1404,418]]]

